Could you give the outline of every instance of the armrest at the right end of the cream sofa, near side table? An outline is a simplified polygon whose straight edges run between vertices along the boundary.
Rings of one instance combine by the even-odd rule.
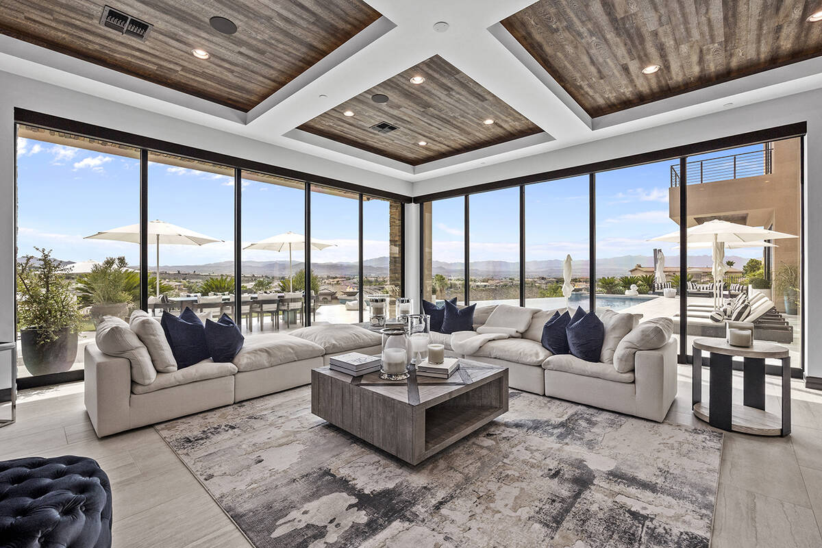
[[[636,414],[662,422],[677,398],[677,339],[635,355]]]

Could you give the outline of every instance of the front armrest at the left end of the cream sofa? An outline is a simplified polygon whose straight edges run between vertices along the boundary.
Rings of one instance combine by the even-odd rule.
[[[124,357],[85,346],[85,411],[99,437],[128,430],[132,366]]]

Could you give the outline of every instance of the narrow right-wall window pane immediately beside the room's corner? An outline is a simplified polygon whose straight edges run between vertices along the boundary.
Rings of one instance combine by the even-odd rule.
[[[465,199],[423,204],[423,298],[465,299]]]

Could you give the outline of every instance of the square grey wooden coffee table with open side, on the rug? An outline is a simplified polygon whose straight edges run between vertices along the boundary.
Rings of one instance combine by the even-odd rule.
[[[508,370],[459,360],[448,379],[311,372],[311,410],[380,449],[418,464],[508,411]]]

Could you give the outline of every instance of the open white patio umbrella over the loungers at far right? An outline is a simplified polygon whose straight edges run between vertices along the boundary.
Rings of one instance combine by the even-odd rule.
[[[714,282],[719,282],[725,274],[725,244],[751,244],[761,240],[776,240],[778,238],[797,237],[793,234],[779,233],[775,230],[768,230],[761,227],[749,227],[746,224],[731,223],[721,219],[713,219],[707,223],[697,224],[687,230],[688,246],[691,242],[705,243],[712,246],[713,265],[722,263],[719,269],[711,269],[714,274]],[[663,236],[651,238],[651,242],[679,242],[679,231],[667,233]],[[722,256],[719,257],[718,254]],[[717,279],[716,276],[720,278]],[[714,306],[718,306],[721,295],[718,295],[717,285],[713,287]]]

